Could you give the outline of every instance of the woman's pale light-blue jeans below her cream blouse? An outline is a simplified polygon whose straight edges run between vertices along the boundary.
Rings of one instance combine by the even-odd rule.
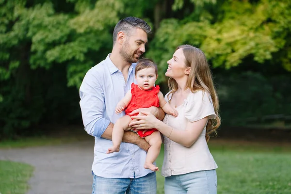
[[[204,170],[165,178],[165,194],[216,194],[216,170]]]

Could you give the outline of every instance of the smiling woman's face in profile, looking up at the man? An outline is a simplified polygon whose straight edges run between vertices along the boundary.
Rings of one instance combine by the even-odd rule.
[[[185,65],[185,56],[182,49],[176,50],[172,59],[170,59],[167,64],[169,65],[165,73],[167,77],[178,79],[187,76],[185,74],[185,70],[187,69]]]

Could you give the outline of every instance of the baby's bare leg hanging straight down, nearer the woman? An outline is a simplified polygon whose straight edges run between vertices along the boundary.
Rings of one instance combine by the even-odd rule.
[[[150,147],[147,151],[145,168],[152,171],[159,171],[159,167],[155,166],[153,163],[156,161],[160,154],[162,138],[159,131],[153,132],[151,135],[146,136],[146,141],[149,143]]]

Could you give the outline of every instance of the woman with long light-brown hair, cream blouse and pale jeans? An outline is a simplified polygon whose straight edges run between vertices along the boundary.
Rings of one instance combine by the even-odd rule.
[[[167,63],[170,92],[165,99],[178,117],[167,114],[159,121],[144,113],[132,116],[139,120],[130,125],[137,130],[156,128],[163,134],[165,194],[216,194],[217,165],[207,141],[220,118],[209,65],[204,53],[190,45],[179,46]]]

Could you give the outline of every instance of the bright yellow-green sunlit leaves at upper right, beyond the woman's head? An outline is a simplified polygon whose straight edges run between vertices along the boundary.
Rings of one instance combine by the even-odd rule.
[[[214,66],[237,66],[249,55],[254,57],[254,61],[263,63],[272,58],[272,53],[283,48],[285,37],[275,39],[273,32],[275,28],[283,30],[283,26],[273,20],[268,21],[274,16],[271,13],[274,7],[269,5],[268,1],[255,5],[233,1],[224,6],[225,10],[240,7],[240,12],[226,12],[223,20],[213,25],[201,45]]]

